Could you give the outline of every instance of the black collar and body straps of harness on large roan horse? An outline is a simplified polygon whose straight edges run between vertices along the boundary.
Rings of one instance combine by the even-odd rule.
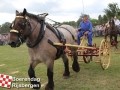
[[[41,23],[41,28],[40,28],[40,32],[39,32],[38,38],[37,38],[35,44],[33,44],[33,45],[27,43],[27,46],[29,48],[33,48],[37,44],[40,43],[40,41],[44,37],[45,28],[48,28],[49,30],[51,30],[56,35],[56,37],[59,39],[60,43],[63,43],[63,45],[66,43],[66,39],[64,37],[64,34],[61,31],[59,31],[57,29],[57,27],[53,27],[52,25],[50,25],[48,23],[45,23],[44,20],[41,20],[40,23]],[[75,40],[74,35],[67,28],[65,28],[65,27],[60,27],[60,28],[64,28],[65,30],[67,30],[71,34],[73,40]],[[56,53],[56,58],[55,59],[58,59],[61,56],[61,54],[64,53],[64,50],[65,50],[66,47],[65,46],[63,46],[63,47],[57,47],[57,46],[53,45],[53,42],[50,39],[48,39],[48,43],[51,44],[52,46],[54,46],[57,49],[57,53]]]

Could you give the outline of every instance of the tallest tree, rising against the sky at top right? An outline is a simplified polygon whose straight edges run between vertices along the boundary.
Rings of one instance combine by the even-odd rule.
[[[109,3],[108,8],[104,9],[106,16],[110,19],[111,17],[118,17],[120,9],[117,3]]]

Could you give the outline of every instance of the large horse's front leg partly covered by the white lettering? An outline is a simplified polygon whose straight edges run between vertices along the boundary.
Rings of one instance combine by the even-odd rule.
[[[35,71],[34,68],[36,67],[36,65],[38,64],[38,62],[33,61],[30,66],[29,66],[29,70],[28,70],[28,75],[30,78],[36,78],[35,76]],[[41,83],[39,81],[31,81],[31,84],[33,85],[33,89],[40,89],[41,87]]]

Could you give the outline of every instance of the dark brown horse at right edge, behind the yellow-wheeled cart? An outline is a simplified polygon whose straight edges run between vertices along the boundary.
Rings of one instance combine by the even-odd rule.
[[[108,22],[108,25],[105,26],[105,39],[107,38],[107,36],[110,36],[110,44],[112,46],[115,46],[116,49],[117,47],[117,35],[118,35],[118,28],[115,26],[115,22],[114,20],[110,20]]]

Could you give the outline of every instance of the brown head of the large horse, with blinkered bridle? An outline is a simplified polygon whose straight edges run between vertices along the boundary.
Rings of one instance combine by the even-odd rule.
[[[11,47],[19,47],[22,43],[25,42],[27,36],[31,33],[31,25],[27,19],[27,11],[23,10],[22,13],[19,13],[16,10],[16,17],[10,28],[10,43]]]

